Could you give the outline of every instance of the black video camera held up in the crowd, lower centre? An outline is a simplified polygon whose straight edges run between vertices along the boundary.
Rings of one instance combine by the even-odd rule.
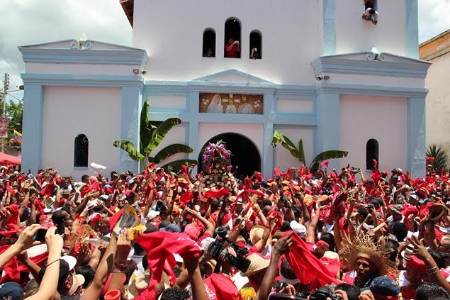
[[[245,255],[247,255],[248,252],[247,249],[238,246],[235,242],[228,239],[227,229],[225,227],[215,229],[215,233],[217,234],[217,237],[208,248],[208,255],[213,257],[217,262],[214,272],[219,272],[223,261],[227,262],[232,267],[237,268],[237,270],[240,270],[241,272],[246,272],[250,265],[250,261],[245,258]],[[236,256],[228,253],[227,248],[229,247],[232,247],[235,250]]]

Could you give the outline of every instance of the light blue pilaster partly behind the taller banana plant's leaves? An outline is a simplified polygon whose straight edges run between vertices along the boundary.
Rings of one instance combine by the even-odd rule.
[[[141,87],[122,87],[122,104],[120,118],[120,139],[130,140],[139,148]],[[120,150],[120,172],[139,171],[139,163],[131,159],[127,152]]]

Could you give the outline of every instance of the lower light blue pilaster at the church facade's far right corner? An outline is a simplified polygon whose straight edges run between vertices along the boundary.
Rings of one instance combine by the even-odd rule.
[[[407,168],[413,178],[425,176],[425,97],[407,100]]]

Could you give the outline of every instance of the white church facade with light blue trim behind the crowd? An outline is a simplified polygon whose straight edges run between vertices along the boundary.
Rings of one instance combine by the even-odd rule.
[[[362,0],[114,5],[133,27],[132,46],[69,39],[19,47],[23,170],[79,177],[96,162],[137,172],[113,141],[137,144],[148,101],[152,121],[181,118],[159,147],[190,145],[185,158],[222,139],[241,170],[269,177],[276,166],[299,165],[271,146],[279,130],[303,140],[307,162],[339,149],[349,155],[334,167],[366,170],[377,158],[382,170],[424,175],[429,63],[418,60],[417,0],[376,0],[376,25],[361,18]],[[234,52],[229,38],[239,41]]]

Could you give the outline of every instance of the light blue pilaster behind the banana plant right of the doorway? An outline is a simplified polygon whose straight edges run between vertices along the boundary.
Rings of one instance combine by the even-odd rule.
[[[317,155],[325,150],[339,150],[339,94],[337,92],[320,91],[316,98],[317,129],[315,144]],[[338,160],[330,160],[331,170],[339,166]]]

